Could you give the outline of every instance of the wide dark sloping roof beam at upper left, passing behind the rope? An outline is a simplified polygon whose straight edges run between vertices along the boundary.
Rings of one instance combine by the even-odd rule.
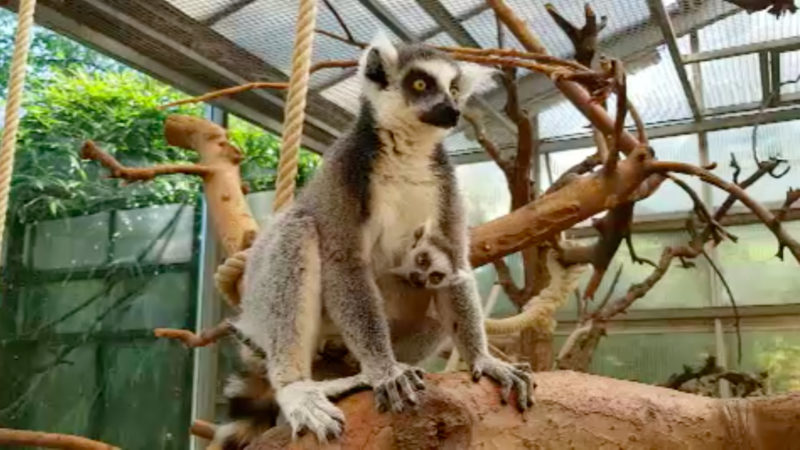
[[[141,3],[141,0],[41,0],[37,5],[37,21],[48,16],[47,21],[58,24],[52,28],[191,93],[253,79],[286,78],[170,3],[150,0],[146,8]],[[15,2],[5,6],[13,9]],[[222,70],[216,70],[220,67]],[[281,130],[281,95],[244,93],[235,100],[215,103],[224,104],[231,112],[270,131]],[[351,116],[318,94],[312,95],[309,111],[304,145],[316,151],[328,147]]]

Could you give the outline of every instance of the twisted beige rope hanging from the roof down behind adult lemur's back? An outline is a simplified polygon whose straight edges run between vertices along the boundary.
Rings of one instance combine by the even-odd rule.
[[[297,153],[303,137],[306,95],[311,70],[311,43],[317,16],[316,0],[300,0],[297,15],[294,51],[292,53],[292,75],[289,78],[289,93],[284,111],[283,142],[278,163],[278,180],[275,185],[273,211],[280,211],[292,202],[297,176]]]

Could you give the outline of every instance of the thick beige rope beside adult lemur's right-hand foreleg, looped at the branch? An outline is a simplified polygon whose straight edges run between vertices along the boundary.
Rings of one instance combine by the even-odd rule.
[[[488,334],[512,334],[526,328],[537,328],[552,331],[555,327],[553,314],[556,309],[566,303],[569,295],[575,290],[586,265],[575,264],[564,267],[558,262],[556,252],[551,250],[547,255],[547,269],[550,272],[550,284],[525,305],[517,315],[503,319],[486,319]]]

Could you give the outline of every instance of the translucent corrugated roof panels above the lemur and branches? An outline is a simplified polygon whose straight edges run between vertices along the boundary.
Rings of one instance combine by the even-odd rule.
[[[701,107],[704,108],[704,115],[753,110],[762,99],[764,86],[769,86],[769,80],[762,80],[762,77],[769,75],[770,70],[774,70],[781,81],[796,78],[800,73],[800,46],[785,48],[776,53],[778,62],[770,67],[760,66],[762,61],[757,52],[704,60],[700,63],[682,64],[677,61],[676,64],[665,45],[661,24],[651,14],[651,7],[656,1],[658,0],[591,2],[596,15],[607,19],[599,36],[598,52],[625,63],[630,74],[629,95],[648,125],[694,120],[676,66],[685,68],[692,79],[697,77],[697,69],[702,72],[698,97]],[[714,52],[753,44],[763,44],[765,47],[761,51],[769,51],[771,41],[793,39],[800,35],[800,14],[787,14],[776,19],[765,12],[748,14],[724,0],[661,1],[670,16],[671,26],[677,36],[677,46],[683,57],[692,53]],[[552,3],[566,19],[582,25],[584,2],[507,2],[541,38],[550,53],[570,57],[573,52],[572,44],[545,12],[545,4]],[[140,17],[139,12],[134,11],[136,7],[126,6],[124,3],[110,2],[113,6],[108,8],[128,10],[136,15],[134,19],[142,20],[145,26],[150,25],[146,23],[145,13]],[[187,20],[194,21],[198,26],[210,27],[216,33],[215,36],[228,41],[226,45],[234,45],[236,49],[246,52],[248,57],[257,58],[264,67],[269,68],[268,71],[249,71],[251,78],[253,74],[261,74],[266,79],[288,77],[297,15],[296,0],[157,0],[152,3],[154,9],[160,7],[155,5],[162,4],[174,7]],[[455,22],[466,33],[466,40],[482,47],[498,45],[494,13],[484,0],[329,0],[328,3],[343,18],[354,38],[362,42],[369,41],[377,31],[383,30],[397,41],[410,39],[436,45],[464,45],[464,36],[451,34],[452,27],[448,27]],[[141,9],[141,6],[138,8]],[[165,24],[164,27],[175,25]],[[319,4],[317,28],[344,34],[325,2]],[[177,33],[178,28],[175,30]],[[128,32],[126,27],[122,27],[122,31]],[[695,48],[690,45],[692,34],[696,37]],[[172,38],[169,34],[165,37]],[[215,46],[200,41],[183,44],[227,69],[233,70],[239,63],[237,58],[240,56],[229,55],[228,47],[203,48]],[[508,32],[505,33],[505,46],[522,48]],[[354,59],[358,57],[359,51],[355,46],[317,35],[313,58],[315,61]],[[176,61],[175,64],[178,63]],[[356,111],[358,84],[353,79],[354,73],[353,69],[332,69],[317,72],[313,76],[312,91],[317,97],[311,103],[322,102],[324,107],[312,115],[317,114],[315,119],[330,125],[328,130],[341,129],[342,124],[347,123],[344,116]],[[540,112],[542,138],[559,140],[588,131],[588,122],[563,100],[550,80],[524,71],[521,78],[522,104],[529,111]],[[213,81],[220,83],[219,80]],[[793,94],[796,91],[797,87],[793,85],[781,89],[783,94]],[[485,104],[492,105],[499,111],[504,103],[504,96],[502,87],[498,87],[485,94]],[[330,113],[330,105],[341,110]],[[340,120],[333,120],[332,116]],[[486,120],[489,134],[504,144],[507,128],[500,123],[494,123],[497,119],[491,114],[486,116]],[[322,128],[326,129],[324,126]],[[471,146],[463,142],[469,140],[469,130],[462,128],[462,131],[466,132],[461,136],[459,147],[455,150],[471,147],[477,151],[474,141]],[[506,136],[505,140],[508,139]]]

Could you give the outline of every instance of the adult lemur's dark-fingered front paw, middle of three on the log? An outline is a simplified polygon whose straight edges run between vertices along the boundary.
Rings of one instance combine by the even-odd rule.
[[[425,371],[418,367],[395,364],[386,375],[372,385],[378,411],[385,412],[391,409],[400,412],[406,404],[415,406],[419,402],[416,392],[425,389],[422,380],[424,374]]]

